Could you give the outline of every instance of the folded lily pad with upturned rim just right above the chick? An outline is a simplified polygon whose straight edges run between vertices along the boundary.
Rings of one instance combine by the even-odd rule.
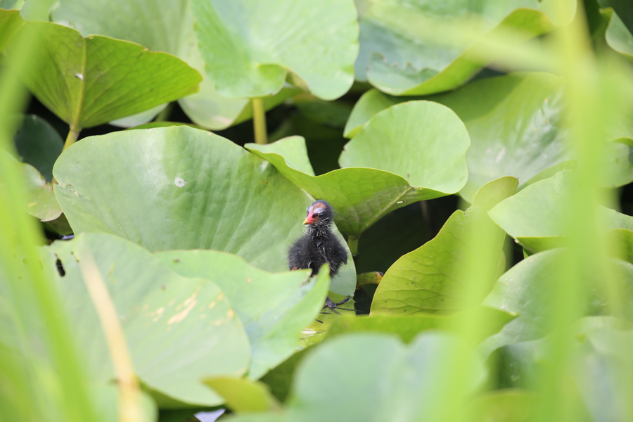
[[[341,165],[350,168],[314,177],[291,167],[284,156],[295,160],[303,142],[291,137],[245,147],[314,198],[331,203],[337,226],[350,236],[399,207],[456,193],[468,178],[466,129],[450,110],[427,101],[376,115],[341,154]]]

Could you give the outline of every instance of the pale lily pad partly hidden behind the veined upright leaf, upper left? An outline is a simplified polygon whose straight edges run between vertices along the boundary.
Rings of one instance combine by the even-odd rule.
[[[34,3],[38,1],[34,0]],[[188,117],[202,127],[224,129],[248,120],[252,115],[248,99],[226,98],[218,94],[205,74],[205,62],[193,33],[193,15],[186,0],[62,0],[51,10],[50,16],[54,22],[74,27],[84,37],[99,34],[124,39],[152,51],[174,54],[186,61],[203,75],[203,81],[200,82],[200,91],[180,98],[179,103]],[[103,16],[117,18],[103,19]],[[272,108],[296,91],[298,89],[283,89],[279,95],[265,98],[264,107]],[[160,113],[164,106],[117,120],[115,124],[124,127],[142,124]]]

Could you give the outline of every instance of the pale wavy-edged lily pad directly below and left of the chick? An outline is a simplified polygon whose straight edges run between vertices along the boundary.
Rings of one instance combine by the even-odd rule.
[[[295,352],[302,329],[312,323],[328,292],[327,271],[302,286],[309,271],[271,274],[215,250],[170,250],[155,257],[182,276],[211,280],[222,288],[250,340],[251,379],[261,378]]]

